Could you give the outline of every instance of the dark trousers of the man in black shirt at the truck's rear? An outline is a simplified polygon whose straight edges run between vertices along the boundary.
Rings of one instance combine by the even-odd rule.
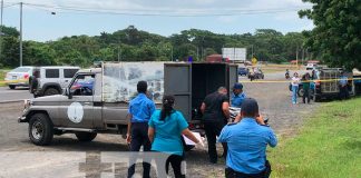
[[[221,131],[225,122],[204,122],[204,129],[206,132],[207,141],[208,141],[208,156],[209,161],[213,164],[217,162],[217,149],[216,149],[216,137],[221,135]],[[223,146],[223,156],[227,156],[227,145],[222,142]]]

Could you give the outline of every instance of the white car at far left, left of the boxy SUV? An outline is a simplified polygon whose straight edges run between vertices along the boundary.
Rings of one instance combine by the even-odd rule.
[[[16,87],[29,87],[29,77],[32,70],[33,67],[31,66],[18,67],[6,75],[4,81],[10,89],[16,89]]]

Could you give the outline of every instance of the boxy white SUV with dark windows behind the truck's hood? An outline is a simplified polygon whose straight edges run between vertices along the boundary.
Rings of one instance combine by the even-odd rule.
[[[39,67],[35,69],[32,80],[30,81],[30,92],[35,97],[62,93],[62,90],[68,87],[79,69],[79,67],[70,66]]]

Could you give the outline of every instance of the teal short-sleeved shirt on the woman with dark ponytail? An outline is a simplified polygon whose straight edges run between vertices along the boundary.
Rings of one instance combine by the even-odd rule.
[[[188,123],[179,111],[173,110],[170,116],[160,120],[160,110],[156,110],[148,123],[155,129],[152,150],[183,155],[182,131],[188,128]]]

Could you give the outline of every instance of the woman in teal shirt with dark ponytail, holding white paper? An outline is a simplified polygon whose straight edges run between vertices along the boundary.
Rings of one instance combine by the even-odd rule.
[[[180,170],[184,160],[182,135],[196,144],[201,144],[188,129],[188,123],[182,112],[173,109],[173,96],[164,96],[162,110],[156,110],[149,120],[148,137],[152,142],[152,150],[169,154],[166,161],[166,172],[169,164],[173,167],[176,178],[185,177]]]

